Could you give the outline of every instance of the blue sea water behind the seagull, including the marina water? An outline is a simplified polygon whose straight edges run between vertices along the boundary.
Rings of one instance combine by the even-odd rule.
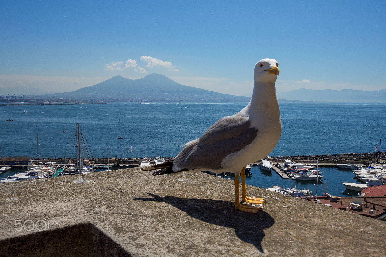
[[[237,113],[246,102],[108,102],[107,104],[0,106],[3,156],[47,159],[76,157],[76,123],[95,158],[176,156],[218,119]],[[386,104],[280,102],[281,138],[270,155],[324,155],[374,152],[386,139]],[[8,120],[8,121],[7,121]],[[12,121],[9,121],[12,120]],[[65,131],[65,132],[63,132]],[[123,137],[123,139],[118,139]],[[38,150],[38,151],[37,151]],[[320,168],[322,187],[332,194],[356,195],[340,182],[359,181],[348,170]],[[20,171],[22,172],[22,171]],[[5,178],[5,174],[1,174]],[[232,178],[231,178],[232,179]],[[259,167],[249,185],[297,186],[315,193],[316,182],[281,180]],[[318,191],[321,190],[318,187]],[[329,192],[328,191],[328,192]]]

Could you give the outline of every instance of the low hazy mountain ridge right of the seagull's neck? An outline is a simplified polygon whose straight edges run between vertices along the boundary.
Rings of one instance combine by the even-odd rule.
[[[313,90],[301,88],[277,94],[280,99],[313,101],[313,102],[386,102],[386,89],[364,91],[354,89]]]

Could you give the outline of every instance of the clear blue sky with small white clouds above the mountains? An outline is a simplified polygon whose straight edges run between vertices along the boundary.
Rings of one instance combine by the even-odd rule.
[[[273,58],[281,71],[278,92],[386,89],[385,7],[385,1],[2,1],[0,87],[64,92],[116,75],[159,73],[248,95],[256,62]]]

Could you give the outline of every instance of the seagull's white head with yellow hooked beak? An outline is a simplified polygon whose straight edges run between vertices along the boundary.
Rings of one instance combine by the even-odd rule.
[[[254,70],[255,81],[274,83],[280,72],[278,66],[278,61],[274,59],[259,60]]]

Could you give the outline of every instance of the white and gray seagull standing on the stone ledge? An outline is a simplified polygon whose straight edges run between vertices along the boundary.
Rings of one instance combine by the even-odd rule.
[[[281,119],[275,81],[279,64],[262,59],[254,69],[251,101],[238,113],[216,121],[200,138],[186,143],[178,155],[161,164],[142,168],[155,170],[152,175],[174,176],[183,172],[212,171],[235,174],[235,208],[257,213],[262,210],[260,197],[247,197],[245,167],[269,155],[281,136]],[[241,174],[242,205],[239,196]]]

